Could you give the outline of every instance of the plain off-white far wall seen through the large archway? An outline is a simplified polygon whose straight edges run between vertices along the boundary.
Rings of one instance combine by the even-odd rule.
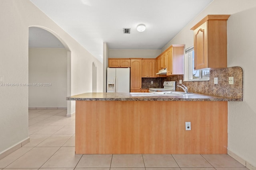
[[[28,107],[67,107],[67,59],[63,48],[28,49]]]

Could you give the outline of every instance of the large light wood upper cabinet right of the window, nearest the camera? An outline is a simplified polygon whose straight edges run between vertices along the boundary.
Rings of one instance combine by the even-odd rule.
[[[227,67],[227,20],[230,15],[208,15],[194,30],[194,69]]]

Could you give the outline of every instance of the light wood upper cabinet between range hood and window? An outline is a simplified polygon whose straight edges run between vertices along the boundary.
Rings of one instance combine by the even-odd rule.
[[[184,45],[171,45],[166,51],[166,75],[184,74]]]

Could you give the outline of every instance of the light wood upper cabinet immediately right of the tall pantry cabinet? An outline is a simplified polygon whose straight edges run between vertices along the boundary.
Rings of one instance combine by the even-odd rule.
[[[155,67],[155,59],[142,59],[142,77],[156,77]]]

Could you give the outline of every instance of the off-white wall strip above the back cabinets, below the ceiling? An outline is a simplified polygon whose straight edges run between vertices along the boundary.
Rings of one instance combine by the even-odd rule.
[[[161,50],[109,49],[109,58],[156,58]]]

